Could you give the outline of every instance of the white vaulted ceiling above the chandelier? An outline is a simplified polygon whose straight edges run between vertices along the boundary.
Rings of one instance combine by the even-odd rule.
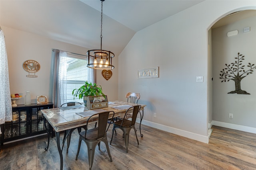
[[[133,35],[203,0],[105,0],[102,49],[116,55]],[[0,0],[0,25],[100,48],[100,0]]]

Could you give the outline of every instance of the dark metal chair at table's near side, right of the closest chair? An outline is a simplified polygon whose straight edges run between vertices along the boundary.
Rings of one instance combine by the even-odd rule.
[[[116,130],[116,128],[119,128],[123,131],[123,137],[124,137],[124,141],[125,141],[126,152],[128,152],[129,135],[130,135],[131,129],[134,129],[136,139],[137,139],[137,142],[138,142],[138,145],[139,145],[139,140],[138,140],[138,137],[137,137],[137,134],[136,134],[137,130],[135,128],[135,122],[136,122],[136,117],[138,115],[138,112],[140,111],[140,107],[141,107],[140,105],[130,107],[129,109],[126,110],[126,113],[124,115],[124,119],[116,121],[116,122],[113,123],[112,137],[111,137],[110,145],[112,143],[114,131]],[[128,113],[130,113],[131,111],[132,111],[132,120],[130,121],[130,120],[126,119],[126,115]]]

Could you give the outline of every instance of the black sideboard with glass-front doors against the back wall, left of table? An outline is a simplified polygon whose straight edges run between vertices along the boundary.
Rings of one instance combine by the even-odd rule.
[[[53,103],[12,107],[12,121],[1,125],[1,145],[46,133],[41,109],[50,108],[53,108]]]

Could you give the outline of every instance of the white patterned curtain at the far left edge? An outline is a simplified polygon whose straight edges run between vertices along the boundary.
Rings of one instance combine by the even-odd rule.
[[[12,102],[4,32],[0,30],[0,124],[12,121]],[[0,134],[2,134],[0,129]]]

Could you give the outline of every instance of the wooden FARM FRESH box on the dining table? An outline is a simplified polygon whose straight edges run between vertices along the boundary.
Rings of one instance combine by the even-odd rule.
[[[98,109],[102,107],[108,107],[107,96],[88,96],[87,109]]]

